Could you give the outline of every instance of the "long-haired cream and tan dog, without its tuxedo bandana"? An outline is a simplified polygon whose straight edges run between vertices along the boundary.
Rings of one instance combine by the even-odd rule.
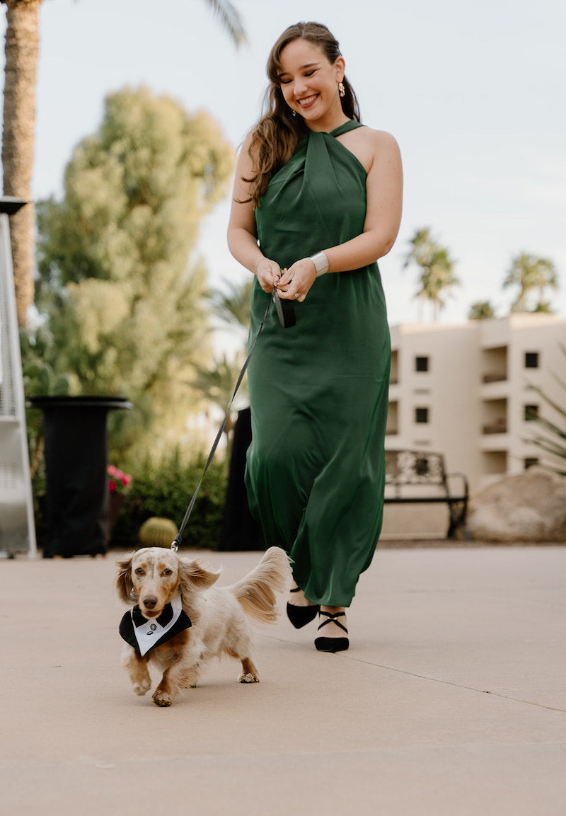
[[[118,595],[139,604],[144,618],[156,618],[179,591],[192,627],[141,657],[126,644],[123,663],[135,694],[151,686],[148,663],[163,672],[153,694],[157,706],[170,706],[181,689],[197,685],[206,660],[229,654],[241,660],[241,683],[258,683],[253,658],[250,618],[261,623],[277,619],[275,592],[283,592],[290,578],[289,558],[278,547],[265,553],[259,565],[230,587],[216,588],[219,578],[199,559],[179,558],[173,550],[147,547],[117,562]]]

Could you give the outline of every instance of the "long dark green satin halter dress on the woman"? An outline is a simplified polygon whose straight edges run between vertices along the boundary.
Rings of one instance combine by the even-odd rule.
[[[281,268],[363,231],[366,173],[334,138],[356,127],[309,132],[269,182],[259,246]],[[252,339],[270,297],[256,279]],[[295,313],[285,329],[272,308],[250,361],[245,484],[308,600],[348,606],[382,526],[391,345],[377,264],[322,275]]]

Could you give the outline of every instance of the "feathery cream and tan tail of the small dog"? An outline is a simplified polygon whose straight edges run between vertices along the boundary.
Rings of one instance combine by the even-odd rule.
[[[283,592],[290,579],[289,557],[280,547],[270,547],[254,570],[229,587],[250,618],[275,623],[278,615],[276,592]]]

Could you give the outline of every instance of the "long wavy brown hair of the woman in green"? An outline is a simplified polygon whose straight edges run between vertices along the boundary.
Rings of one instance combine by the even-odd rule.
[[[308,40],[320,48],[331,65],[342,56],[338,40],[321,23],[290,25],[272,47],[266,66],[269,86],[263,99],[262,116],[252,132],[249,150],[250,157],[257,166],[257,173],[251,179],[242,177],[243,181],[250,184],[248,201],[254,202],[255,206],[259,206],[272,176],[289,161],[298,143],[308,132],[303,118],[292,115],[278,78],[281,73],[281,51],[298,39]],[[360,106],[346,77],[343,78],[343,86],[344,95],[340,98],[343,112],[348,118],[360,122]]]

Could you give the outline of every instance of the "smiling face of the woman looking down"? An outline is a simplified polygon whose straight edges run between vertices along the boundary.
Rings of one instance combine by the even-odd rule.
[[[279,62],[278,78],[285,102],[307,126],[317,130],[318,126],[331,127],[334,121],[343,120],[338,94],[338,82],[344,77],[342,57],[331,64],[319,47],[298,39],[285,46]]]

